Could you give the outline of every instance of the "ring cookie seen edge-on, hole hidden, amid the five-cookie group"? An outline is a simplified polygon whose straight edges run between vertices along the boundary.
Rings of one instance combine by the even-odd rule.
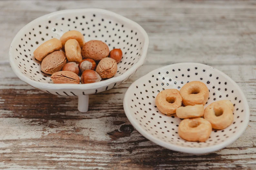
[[[193,106],[185,106],[179,107],[176,109],[176,115],[178,118],[186,119],[186,118],[194,118],[194,117],[202,117],[204,113],[203,105],[193,105]]]

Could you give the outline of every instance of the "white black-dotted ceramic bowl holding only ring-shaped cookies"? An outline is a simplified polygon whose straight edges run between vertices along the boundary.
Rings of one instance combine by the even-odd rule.
[[[180,138],[181,119],[162,114],[155,106],[155,97],[163,89],[180,89],[187,81],[202,81],[210,90],[205,106],[217,100],[231,100],[234,121],[223,130],[213,130],[206,142],[188,142]],[[244,132],[249,122],[249,106],[239,86],[223,72],[199,63],[178,63],[164,66],[141,77],[126,91],[123,107],[132,125],[147,139],[165,148],[203,154],[222,149]]]

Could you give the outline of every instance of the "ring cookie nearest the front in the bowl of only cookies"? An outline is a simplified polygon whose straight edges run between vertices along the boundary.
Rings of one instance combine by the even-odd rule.
[[[206,141],[212,132],[212,125],[202,117],[183,119],[179,124],[178,133],[187,141]]]

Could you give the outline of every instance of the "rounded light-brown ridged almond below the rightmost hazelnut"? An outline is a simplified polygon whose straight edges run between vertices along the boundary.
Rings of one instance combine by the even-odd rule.
[[[95,70],[102,79],[111,78],[117,72],[117,64],[113,58],[103,58]]]

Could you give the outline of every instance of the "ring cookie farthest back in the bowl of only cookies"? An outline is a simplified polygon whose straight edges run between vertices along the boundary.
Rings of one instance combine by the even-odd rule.
[[[191,81],[180,89],[182,103],[187,105],[205,105],[209,98],[209,89],[201,81]]]

